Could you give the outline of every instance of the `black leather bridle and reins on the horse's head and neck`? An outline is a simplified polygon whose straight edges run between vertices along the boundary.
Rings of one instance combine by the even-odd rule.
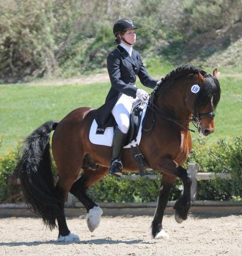
[[[155,124],[155,115],[154,113],[159,114],[160,117],[168,120],[168,121],[172,121],[173,123],[177,124],[178,126],[182,127],[185,130],[188,130],[189,132],[195,132],[195,130],[192,130],[186,126],[183,126],[181,123],[184,122],[190,122],[193,123],[193,125],[196,127],[197,131],[200,132],[200,123],[201,123],[201,119],[203,118],[213,118],[215,117],[215,113],[214,112],[210,112],[210,113],[203,113],[200,114],[198,107],[197,107],[197,93],[195,94],[195,101],[194,101],[194,114],[192,114],[191,118],[188,120],[176,120],[174,118],[169,117],[168,114],[166,114],[164,111],[162,111],[160,108],[158,108],[155,104],[154,104],[154,98],[155,98],[155,92],[156,89],[153,90],[153,92],[150,94],[150,98],[149,98],[149,102],[146,103],[147,107],[150,108],[150,110],[152,111],[152,124],[149,127],[149,129],[145,129],[143,127],[144,121],[142,123],[142,129],[145,132],[149,132],[150,130],[152,130],[153,125]]]

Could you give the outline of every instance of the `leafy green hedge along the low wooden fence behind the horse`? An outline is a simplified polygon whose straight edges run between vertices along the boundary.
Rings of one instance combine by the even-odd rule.
[[[197,199],[200,200],[242,200],[242,136],[231,139],[219,139],[205,143],[205,139],[196,139],[187,163],[199,163],[201,172],[231,173],[231,180],[205,180],[199,182]],[[0,157],[0,202],[23,201],[20,186],[15,180],[14,167],[17,164],[17,150]],[[136,182],[120,180],[106,176],[89,189],[88,194],[99,202],[150,202],[156,201],[161,175],[157,180],[140,179]],[[183,186],[177,180],[172,188],[170,200],[181,195]]]

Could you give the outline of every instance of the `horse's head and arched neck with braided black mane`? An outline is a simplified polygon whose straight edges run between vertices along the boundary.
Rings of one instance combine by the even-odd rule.
[[[184,130],[193,131],[188,128],[189,121],[193,121],[199,132],[208,136],[215,129],[213,118],[221,93],[217,77],[217,69],[211,76],[191,65],[175,68],[152,93],[152,113],[157,112]]]

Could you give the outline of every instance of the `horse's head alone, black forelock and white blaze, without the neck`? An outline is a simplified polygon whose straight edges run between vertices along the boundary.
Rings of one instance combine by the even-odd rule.
[[[194,86],[197,92],[193,92],[195,96],[193,117],[197,122],[197,128],[204,136],[208,136],[214,132],[215,109],[218,105],[221,89],[218,82],[218,71],[213,70],[213,76],[210,74],[203,76],[198,73],[199,85]],[[196,89],[195,89],[196,90]]]

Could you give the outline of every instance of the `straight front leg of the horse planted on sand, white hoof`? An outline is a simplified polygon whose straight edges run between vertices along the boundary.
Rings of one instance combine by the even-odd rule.
[[[169,238],[167,233],[162,229],[162,220],[165,207],[169,199],[171,187],[177,178],[168,174],[162,174],[161,189],[159,191],[158,203],[155,216],[152,221],[152,236],[155,239]]]

